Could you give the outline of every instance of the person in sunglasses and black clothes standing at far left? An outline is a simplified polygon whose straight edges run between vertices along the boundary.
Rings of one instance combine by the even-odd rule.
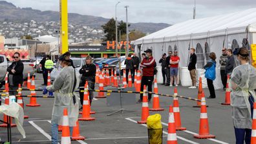
[[[12,90],[9,92],[10,96],[16,96],[17,92],[14,92],[14,90],[17,90],[19,87],[19,84],[22,85],[23,83],[23,69],[24,65],[21,62],[20,54],[19,52],[14,53],[14,62],[7,68],[8,74],[8,83],[9,83],[9,89]]]

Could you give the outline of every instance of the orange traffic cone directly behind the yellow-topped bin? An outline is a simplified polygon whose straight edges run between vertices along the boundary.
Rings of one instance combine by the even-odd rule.
[[[149,116],[149,103],[147,103],[147,94],[145,93],[146,87],[144,85],[144,93],[143,93],[143,99],[142,99],[142,119],[140,121],[137,121],[139,124],[147,123],[147,117]]]

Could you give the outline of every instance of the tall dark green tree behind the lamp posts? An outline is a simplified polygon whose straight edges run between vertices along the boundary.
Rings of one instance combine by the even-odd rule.
[[[119,37],[119,30],[121,30],[121,36],[122,34],[126,34],[126,23],[123,21],[120,21],[118,23],[118,37]],[[128,25],[131,26],[131,25]],[[104,41],[115,41],[116,40],[116,21],[114,18],[110,19],[105,25],[101,25],[101,27],[104,30],[105,33],[105,39]]]

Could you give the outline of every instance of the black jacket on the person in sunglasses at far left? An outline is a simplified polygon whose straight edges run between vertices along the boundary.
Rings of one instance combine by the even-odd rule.
[[[13,67],[14,67],[14,70],[16,71],[15,73],[12,73],[12,68]],[[13,75],[12,81],[14,83],[14,86],[16,86],[16,87],[19,86],[19,84],[22,85],[22,83],[23,83],[23,69],[24,69],[24,65],[21,61],[12,62],[12,65],[10,65],[7,68],[7,72],[9,72],[9,75],[10,74]]]

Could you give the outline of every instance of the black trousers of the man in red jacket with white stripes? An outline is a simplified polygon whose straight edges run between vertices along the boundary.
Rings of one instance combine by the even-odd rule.
[[[142,83],[140,85],[140,92],[143,92],[144,85],[147,87],[148,92],[152,92],[152,83],[154,81],[154,76],[142,76]],[[152,94],[148,94],[149,100],[151,99]],[[142,100],[143,94],[140,94],[140,99]]]

